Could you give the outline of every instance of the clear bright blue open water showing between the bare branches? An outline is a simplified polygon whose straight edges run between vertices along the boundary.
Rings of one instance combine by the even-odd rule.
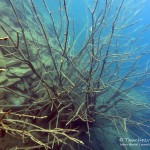
[[[58,17],[56,14],[55,14],[55,12],[57,12],[57,10],[58,10],[58,8],[57,8],[57,5],[55,6],[55,5],[53,5],[55,2],[48,2],[47,1],[47,5],[49,6],[49,8],[50,9],[52,9],[52,10],[54,10],[54,18],[56,17]],[[83,45],[84,45],[84,43],[85,43],[85,41],[86,41],[86,37],[87,37],[87,35],[89,34],[88,33],[88,31],[85,29],[86,27],[88,28],[88,30],[90,30],[91,29],[91,19],[90,19],[90,16],[91,16],[91,14],[89,13],[89,10],[87,9],[87,7],[89,6],[91,9],[92,9],[92,7],[93,7],[93,4],[94,4],[94,2],[92,2],[92,1],[76,1],[76,0],[70,0],[70,1],[68,1],[68,8],[69,8],[69,11],[68,11],[68,14],[69,14],[69,17],[70,17],[70,24],[71,24],[71,21],[74,21],[74,27],[75,27],[75,35],[76,35],[76,37],[80,34],[80,36],[78,37],[78,39],[77,39],[77,42],[75,43],[75,45],[74,45],[74,48],[73,48],[73,51],[72,51],[72,55],[75,55],[76,53],[78,53],[78,51],[80,51],[80,49],[83,47]],[[133,5],[136,5],[136,3],[137,3],[137,1],[133,1],[132,2],[132,4]],[[116,7],[115,7],[115,5],[116,5]],[[130,5],[129,7],[131,7],[131,9],[132,9],[132,6],[133,5]],[[54,7],[53,7],[54,6]],[[98,6],[98,9],[99,9],[99,11],[102,11],[102,10],[104,10],[104,6],[105,6],[105,2],[103,1],[102,3],[101,3],[101,5],[99,5]],[[111,10],[110,10],[110,13],[108,14],[108,15],[110,15],[108,18],[110,19],[110,20],[108,20],[108,27],[107,28],[105,28],[104,29],[104,31],[102,32],[102,34],[101,34],[101,37],[105,37],[105,36],[107,36],[110,32],[111,32],[111,28],[109,28],[109,25],[111,25],[112,24],[112,21],[113,21],[113,18],[111,18],[112,16],[113,16],[113,13],[115,13],[115,11],[116,11],[116,9],[118,8],[118,3],[117,2],[113,2],[113,7],[114,8],[110,8]],[[150,15],[149,15],[149,10],[150,10],[150,2],[149,1],[146,1],[145,3],[144,3],[144,5],[143,4],[140,4],[140,5],[138,5],[137,6],[137,10],[138,9],[140,9],[140,7],[143,7],[143,9],[141,10],[141,12],[139,12],[133,19],[132,19],[132,21],[134,22],[134,21],[136,21],[136,20],[139,20],[139,19],[142,19],[141,21],[139,21],[139,23],[137,23],[137,24],[135,24],[135,25],[133,25],[133,26],[131,26],[131,27],[128,27],[128,28],[126,28],[125,30],[123,30],[123,31],[121,31],[121,34],[129,34],[130,35],[130,33],[133,31],[133,30],[135,30],[136,28],[138,28],[138,27],[140,27],[140,26],[142,26],[141,27],[141,29],[140,29],[140,31],[142,31],[143,29],[143,27],[144,26],[148,26],[149,24],[150,24]],[[130,8],[129,8],[129,10],[130,10]],[[127,13],[127,12],[126,12]],[[132,15],[132,13],[134,13],[134,10],[133,10],[133,12],[131,12],[131,15]],[[55,16],[56,15],[56,16]],[[120,16],[119,16],[119,19],[121,19],[121,15],[122,16],[124,16],[124,15],[126,15],[126,14],[123,14],[123,13],[121,13],[120,14]],[[129,18],[130,18],[130,15],[128,16]],[[118,22],[119,22],[119,19],[118,19]],[[56,19],[57,20],[57,19]],[[59,25],[58,25],[59,26]],[[85,27],[86,26],[86,27]],[[146,28],[148,28],[148,27],[146,27]],[[81,32],[82,31],[82,32]],[[81,33],[80,33],[81,32]],[[72,30],[70,31],[70,39],[71,39],[71,36],[73,35],[73,32],[72,32]],[[139,68],[139,72],[141,71],[141,72],[143,72],[143,70],[144,69],[147,69],[147,70],[149,70],[149,68],[150,68],[150,63],[149,63],[149,60],[150,60],[150,51],[149,51],[149,44],[150,44],[150,38],[149,38],[149,35],[150,35],[150,30],[149,29],[147,29],[146,31],[144,31],[144,33],[133,33],[133,34],[131,34],[130,36],[127,36],[128,37],[128,39],[126,39],[126,37],[120,37],[121,39],[119,39],[119,37],[118,37],[118,45],[119,44],[122,44],[122,45],[125,45],[125,46],[123,46],[123,47],[121,47],[120,49],[119,49],[119,51],[120,51],[120,54],[122,54],[123,55],[123,52],[129,52],[130,50],[129,49],[132,49],[132,48],[135,48],[136,46],[137,46],[137,49],[135,49],[135,51],[137,51],[137,52],[135,52],[135,55],[134,56],[136,56],[136,57],[138,57],[139,55],[144,55],[144,53],[147,53],[141,60],[139,60],[139,62],[138,62],[138,65],[139,66],[141,66],[140,68]],[[140,36],[141,38],[137,41],[137,42],[135,42],[134,43],[134,39],[135,38],[137,38],[138,36]],[[131,41],[129,40],[131,38]],[[133,41],[132,41],[132,39],[133,39]],[[130,42],[129,42],[130,41]],[[133,42],[133,43],[132,43]],[[112,43],[113,44],[115,44],[115,41],[112,41]],[[142,45],[147,45],[147,46],[145,46],[145,48],[143,48],[143,46]],[[97,46],[97,45],[96,45]],[[113,51],[113,46],[111,47],[111,50]],[[143,50],[141,50],[141,51],[139,51],[138,52],[138,50],[140,50],[140,49],[143,49]],[[105,52],[104,52],[105,53]],[[146,62],[146,65],[145,65],[145,62]],[[131,64],[130,64],[130,60],[129,61],[127,61],[127,62],[125,62],[125,63],[123,63],[123,65],[122,65],[122,68],[124,68],[124,69],[121,69],[120,70],[120,72],[119,72],[119,76],[124,76],[129,70],[130,70],[130,66]],[[112,68],[112,70],[113,70],[113,68],[114,68],[115,66],[111,66],[111,68]],[[129,68],[128,68],[129,67]],[[144,68],[144,69],[143,69]],[[129,69],[129,70],[128,70]],[[112,71],[113,72],[113,71]],[[150,85],[150,79],[149,79],[149,75],[150,74],[150,72],[148,71],[147,72],[147,79],[145,80],[145,82],[143,83],[143,85],[141,85],[141,86],[139,86],[139,87],[135,87],[134,89],[133,89],[133,91],[135,92],[134,93],[134,95],[132,95],[132,96],[134,96],[135,97],[135,99],[137,100],[137,101],[142,101],[142,102],[148,102],[149,103],[149,101],[150,101],[150,99],[149,99],[149,97],[150,97],[150,92],[149,92],[149,85]],[[133,75],[133,77],[131,76],[131,80],[125,85],[126,87],[130,87],[131,86],[131,83],[132,83],[132,81],[137,81],[139,79],[139,77],[134,77],[134,75]],[[106,82],[108,81],[107,79],[105,80]],[[137,92],[137,96],[136,96],[136,92]],[[143,94],[143,92],[144,92],[144,94]],[[141,94],[142,95],[142,97],[139,97],[139,94]],[[134,113],[134,112],[133,112]],[[148,109],[148,110],[146,110],[146,111],[142,111],[141,112],[142,113],[142,117],[144,117],[145,119],[148,119],[149,120],[149,115],[150,115],[150,110]],[[139,118],[137,117],[133,117],[133,119],[136,121],[136,120],[139,120]],[[146,122],[145,123],[146,125],[150,125],[149,124],[149,121],[148,122]],[[147,138],[147,139],[149,139],[149,135],[147,134],[147,133],[144,133],[140,128],[138,128],[138,127],[130,127],[129,126],[129,129],[131,129],[131,131],[134,133],[134,134],[136,134],[136,135],[138,135],[140,138]],[[145,129],[148,133],[150,133],[150,130],[149,130],[149,128],[147,128],[147,127],[143,127],[143,129]],[[92,131],[93,130],[93,131]],[[94,128],[91,128],[91,133],[93,133],[95,131],[95,129]],[[95,134],[95,133],[94,133]],[[97,135],[98,136],[98,135]],[[92,140],[94,141],[96,141],[97,139],[96,139],[96,137],[97,137],[96,135],[93,135],[93,137],[92,137]],[[133,136],[134,138],[137,138],[137,136]],[[95,138],[95,139],[94,139]],[[86,141],[87,139],[85,139],[85,141]],[[109,139],[108,139],[109,140]],[[101,144],[98,144],[98,143],[100,143],[100,139],[97,141],[97,142],[95,142],[93,145],[92,145],[92,149],[93,150],[100,150],[100,149],[105,149],[105,144],[103,143],[101,143]],[[119,143],[120,144],[120,143]],[[88,144],[88,142],[87,142],[87,145],[89,145]],[[99,146],[98,146],[99,145]],[[103,146],[100,146],[100,145],[103,145]],[[123,148],[123,147],[122,147]],[[134,147],[130,147],[129,146],[129,148],[131,148],[131,149],[134,149]],[[83,149],[86,149],[86,148],[83,148]],[[108,149],[108,148],[106,148],[106,149]],[[143,150],[148,150],[149,149],[149,146],[141,146],[141,149],[143,149]]]

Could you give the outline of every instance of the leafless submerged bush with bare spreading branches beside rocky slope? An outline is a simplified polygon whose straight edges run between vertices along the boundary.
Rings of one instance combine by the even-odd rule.
[[[141,112],[150,106],[134,95],[149,89],[149,45],[139,44],[149,25],[134,19],[141,3],[86,1],[76,30],[71,2],[54,1],[56,12],[46,0],[42,12],[34,0],[0,2],[0,137],[14,138],[5,148],[90,149],[94,128],[149,136]]]

